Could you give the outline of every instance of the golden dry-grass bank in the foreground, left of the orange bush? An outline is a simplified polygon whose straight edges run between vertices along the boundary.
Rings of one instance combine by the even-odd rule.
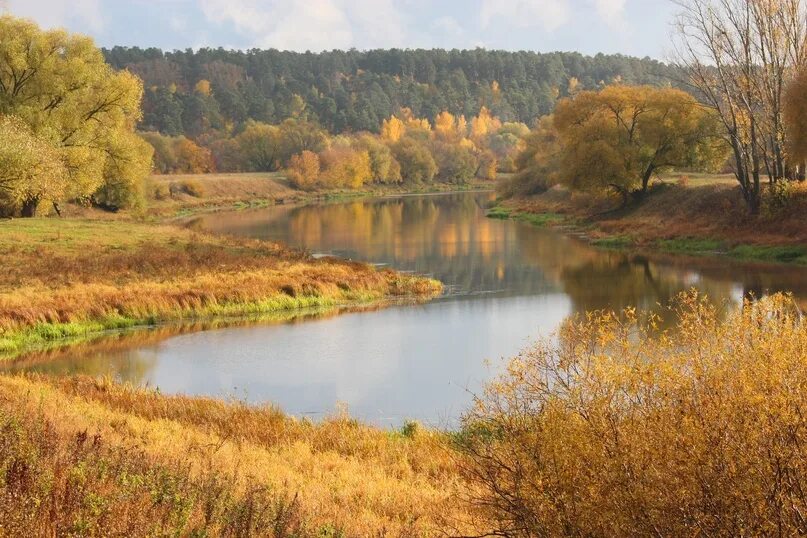
[[[437,536],[466,519],[448,435],[414,423],[0,376],[0,446],[8,535]]]

